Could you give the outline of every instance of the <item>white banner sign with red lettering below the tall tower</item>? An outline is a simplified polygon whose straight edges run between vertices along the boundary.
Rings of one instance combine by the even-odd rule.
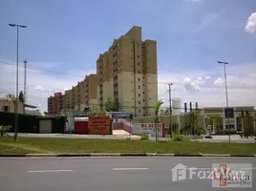
[[[164,138],[164,125],[162,123],[133,123],[132,134],[148,134],[156,137],[156,129],[158,129],[158,136]]]

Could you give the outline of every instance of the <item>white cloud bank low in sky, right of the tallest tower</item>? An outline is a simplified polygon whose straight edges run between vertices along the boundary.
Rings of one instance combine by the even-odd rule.
[[[256,64],[227,66],[227,89],[231,106],[256,106]],[[223,67],[211,71],[191,71],[180,74],[160,74],[159,81],[175,80],[179,86],[173,89],[172,96],[181,96],[184,102],[199,102],[200,107],[225,106]],[[193,76],[204,76],[193,77]],[[164,80],[163,80],[164,79]],[[167,85],[159,85],[159,98],[167,107]],[[238,101],[239,100],[239,101]]]

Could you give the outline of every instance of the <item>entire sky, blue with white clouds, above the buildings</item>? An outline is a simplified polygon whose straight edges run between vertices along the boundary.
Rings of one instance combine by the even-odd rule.
[[[47,110],[47,97],[96,73],[96,59],[134,25],[158,41],[159,99],[256,106],[255,0],[0,0],[0,96],[15,93],[16,30],[19,90],[28,60],[28,103]]]

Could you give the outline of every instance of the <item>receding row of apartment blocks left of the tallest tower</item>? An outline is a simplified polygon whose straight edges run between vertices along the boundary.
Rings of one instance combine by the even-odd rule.
[[[96,74],[86,75],[71,90],[65,91],[65,95],[57,93],[48,98],[48,112],[51,115],[60,114],[63,109],[82,112],[85,107],[96,108],[96,105]]]

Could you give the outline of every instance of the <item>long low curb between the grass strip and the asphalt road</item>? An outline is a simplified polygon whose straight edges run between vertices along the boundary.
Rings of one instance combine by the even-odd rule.
[[[158,153],[67,153],[67,154],[0,154],[0,158],[34,158],[34,157],[234,157],[246,158],[256,155],[228,155],[228,154],[158,154]]]

